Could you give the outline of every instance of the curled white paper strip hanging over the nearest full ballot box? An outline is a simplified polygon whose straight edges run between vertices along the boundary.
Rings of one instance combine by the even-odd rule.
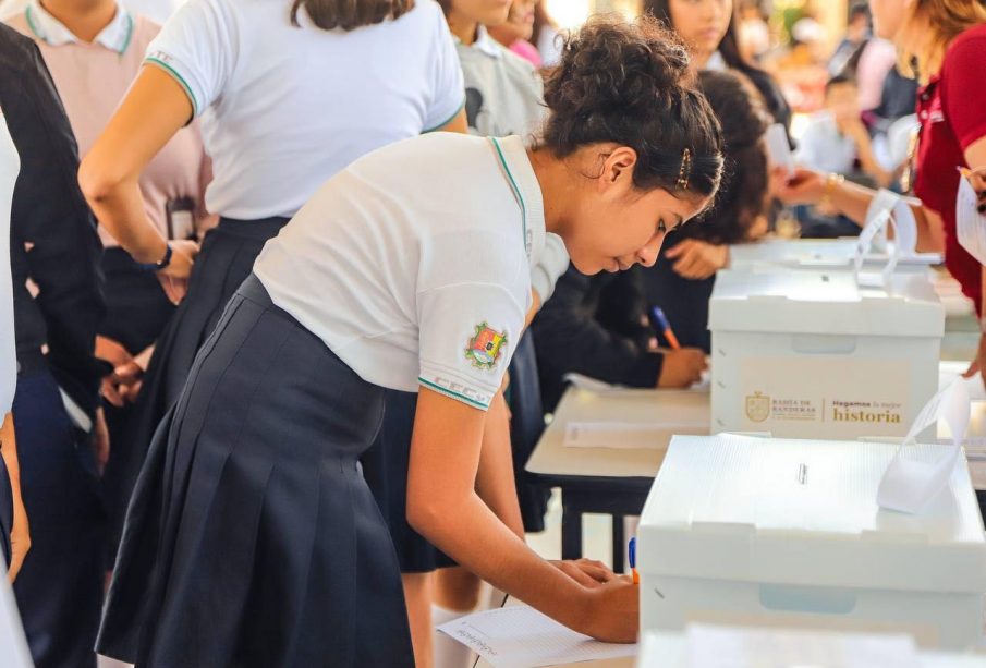
[[[916,513],[948,486],[952,470],[962,457],[961,442],[969,430],[971,399],[964,378],[954,380],[935,394],[914,420],[880,481],[877,490],[880,508]],[[932,462],[909,459],[906,446],[914,444],[917,434],[937,424],[939,418],[948,424],[952,445],[941,446]]]

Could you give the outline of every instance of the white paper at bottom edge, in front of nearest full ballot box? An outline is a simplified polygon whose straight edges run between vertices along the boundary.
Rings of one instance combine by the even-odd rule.
[[[917,668],[914,640],[823,631],[694,624],[686,631],[690,668]]]

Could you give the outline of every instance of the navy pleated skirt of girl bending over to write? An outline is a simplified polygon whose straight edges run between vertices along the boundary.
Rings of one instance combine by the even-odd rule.
[[[357,464],[382,412],[381,388],[245,281],[148,451],[98,651],[138,668],[413,666]]]

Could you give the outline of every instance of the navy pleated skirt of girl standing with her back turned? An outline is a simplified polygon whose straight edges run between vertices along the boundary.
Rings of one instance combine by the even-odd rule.
[[[219,321],[230,297],[253,271],[254,262],[287,218],[233,220],[222,218],[202,244],[188,281],[188,293],[157,340],[141,394],[127,416],[125,452],[113,467],[114,498],[130,498],[147,448],[161,418],[178,400],[195,354]],[[115,513],[111,534],[119,535],[122,514]]]

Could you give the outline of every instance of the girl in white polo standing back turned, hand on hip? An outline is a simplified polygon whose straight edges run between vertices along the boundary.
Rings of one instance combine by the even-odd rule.
[[[169,20],[80,171],[100,223],[166,291],[180,297],[191,275],[127,425],[123,498],[264,243],[355,158],[430,130],[464,131],[463,102],[454,45],[428,0],[190,0]],[[193,242],[167,242],[148,220],[138,178],[199,117],[212,159],[206,208],[221,218],[195,257]]]

